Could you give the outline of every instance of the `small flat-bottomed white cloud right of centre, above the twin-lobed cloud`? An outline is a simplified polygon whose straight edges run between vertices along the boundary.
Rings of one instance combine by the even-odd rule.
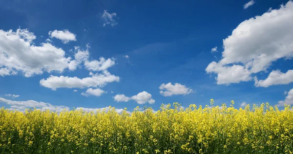
[[[161,84],[159,87],[160,94],[163,96],[172,96],[172,95],[187,95],[192,92],[192,89],[187,88],[185,85],[175,83],[172,85],[171,82]]]

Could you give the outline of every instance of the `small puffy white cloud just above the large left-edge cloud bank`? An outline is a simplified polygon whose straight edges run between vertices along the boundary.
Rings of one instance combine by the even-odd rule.
[[[64,44],[69,41],[76,41],[75,34],[69,32],[67,29],[63,31],[57,31],[56,29],[49,32],[51,38],[61,39]]]

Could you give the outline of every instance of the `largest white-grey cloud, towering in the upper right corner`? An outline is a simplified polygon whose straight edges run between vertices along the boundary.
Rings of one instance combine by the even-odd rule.
[[[217,84],[239,83],[251,80],[251,74],[266,71],[279,58],[292,58],[292,19],[293,1],[289,1],[279,9],[243,21],[223,40],[223,58],[211,62],[206,72],[218,75]]]

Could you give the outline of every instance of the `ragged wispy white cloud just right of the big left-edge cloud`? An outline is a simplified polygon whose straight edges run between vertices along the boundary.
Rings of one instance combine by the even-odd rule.
[[[75,66],[79,65],[80,63],[84,62],[84,67],[89,71],[105,71],[109,67],[115,65],[114,58],[105,59],[104,57],[100,57],[100,60],[89,60],[89,48],[90,46],[86,45],[86,50],[82,50],[80,47],[75,46],[75,55],[74,58],[76,62],[74,63]]]

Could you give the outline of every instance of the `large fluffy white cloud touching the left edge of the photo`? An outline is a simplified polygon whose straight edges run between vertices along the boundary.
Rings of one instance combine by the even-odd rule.
[[[43,72],[60,72],[69,67],[70,57],[49,42],[34,45],[36,36],[27,29],[16,32],[0,30],[0,76],[23,74],[25,77]]]

